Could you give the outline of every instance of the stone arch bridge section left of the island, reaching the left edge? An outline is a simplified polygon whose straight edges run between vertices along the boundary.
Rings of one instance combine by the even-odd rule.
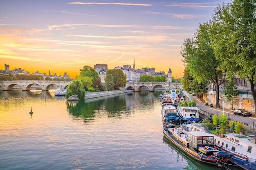
[[[30,90],[32,85],[37,85],[42,88],[42,91],[48,91],[51,85],[56,85],[60,89],[66,89],[72,81],[48,81],[48,80],[13,80],[0,81],[0,89],[13,90],[15,85],[20,86],[22,91]]]

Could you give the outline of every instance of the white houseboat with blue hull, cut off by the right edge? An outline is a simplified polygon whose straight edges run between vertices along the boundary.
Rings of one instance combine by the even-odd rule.
[[[256,137],[238,133],[226,133],[224,137],[208,131],[204,124],[192,123],[183,125],[188,131],[204,131],[214,135],[214,144],[223,151],[233,154],[232,163],[245,170],[256,170]]]

